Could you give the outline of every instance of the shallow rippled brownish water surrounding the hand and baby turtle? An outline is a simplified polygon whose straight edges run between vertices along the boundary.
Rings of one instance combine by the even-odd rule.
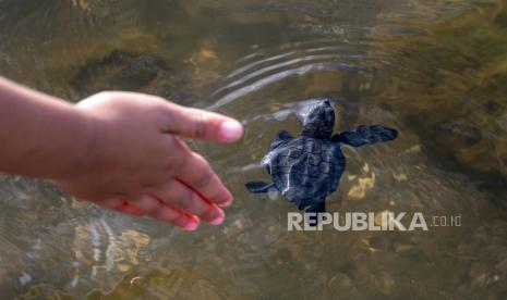
[[[77,101],[153,92],[245,125],[192,142],[236,202],[185,234],[0,177],[4,298],[504,299],[506,1],[0,0],[0,74]],[[288,232],[294,207],[248,193],[295,112],[333,96],[336,129],[396,141],[346,149],[331,212],[461,216],[428,232]],[[8,147],[2,145],[2,147]],[[273,196],[273,195],[271,195]]]

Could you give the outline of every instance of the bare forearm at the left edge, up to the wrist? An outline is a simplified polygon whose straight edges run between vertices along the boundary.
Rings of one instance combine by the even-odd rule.
[[[0,172],[61,178],[79,172],[94,123],[74,104],[0,78]]]

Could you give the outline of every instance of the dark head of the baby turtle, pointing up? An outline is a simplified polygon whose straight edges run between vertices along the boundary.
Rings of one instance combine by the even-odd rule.
[[[335,127],[335,110],[329,100],[312,103],[303,115],[301,135],[313,138],[330,138]]]

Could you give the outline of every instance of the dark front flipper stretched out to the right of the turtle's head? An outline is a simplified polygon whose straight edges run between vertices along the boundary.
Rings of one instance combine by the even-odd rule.
[[[352,132],[342,132],[334,135],[331,140],[343,142],[353,147],[375,143],[379,141],[389,141],[398,137],[398,132],[393,128],[381,125],[364,126],[361,125]]]

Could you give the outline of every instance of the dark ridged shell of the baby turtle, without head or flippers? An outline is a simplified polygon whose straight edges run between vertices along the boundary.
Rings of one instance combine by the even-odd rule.
[[[268,166],[276,188],[304,209],[336,190],[345,157],[329,139],[299,136],[274,149]]]

